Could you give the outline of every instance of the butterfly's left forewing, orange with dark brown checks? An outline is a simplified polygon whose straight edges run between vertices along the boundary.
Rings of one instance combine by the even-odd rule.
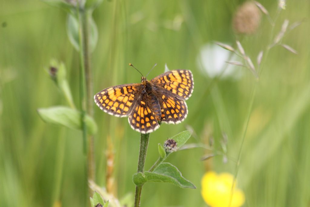
[[[118,116],[127,116],[135,101],[135,96],[141,84],[126,84],[106,88],[94,97],[97,106],[104,112]]]

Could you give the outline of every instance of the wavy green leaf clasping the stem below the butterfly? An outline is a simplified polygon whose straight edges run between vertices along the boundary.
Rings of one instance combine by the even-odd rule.
[[[134,174],[133,182],[137,186],[141,186],[146,182],[167,182],[181,188],[196,189],[193,183],[186,180],[181,172],[170,163],[160,164],[153,172],[144,172],[144,174],[140,172]]]

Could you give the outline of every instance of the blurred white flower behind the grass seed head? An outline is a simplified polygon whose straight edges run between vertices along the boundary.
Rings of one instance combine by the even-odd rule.
[[[197,57],[197,65],[202,74],[210,78],[239,79],[242,75],[242,68],[228,64],[226,61],[240,61],[240,58],[214,43],[202,46]]]

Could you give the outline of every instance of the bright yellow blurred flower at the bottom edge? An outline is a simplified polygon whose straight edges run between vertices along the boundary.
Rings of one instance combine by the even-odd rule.
[[[236,182],[232,189],[232,183],[232,174],[209,171],[201,179],[201,195],[211,207],[239,207],[244,204],[244,193]]]

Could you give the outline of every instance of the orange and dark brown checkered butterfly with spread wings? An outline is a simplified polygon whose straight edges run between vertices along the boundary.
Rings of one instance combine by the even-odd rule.
[[[190,70],[171,70],[150,81],[142,75],[141,83],[103,89],[94,99],[104,112],[128,116],[131,128],[145,134],[155,131],[161,122],[179,124],[183,121],[188,113],[185,100],[192,95],[193,88]]]

